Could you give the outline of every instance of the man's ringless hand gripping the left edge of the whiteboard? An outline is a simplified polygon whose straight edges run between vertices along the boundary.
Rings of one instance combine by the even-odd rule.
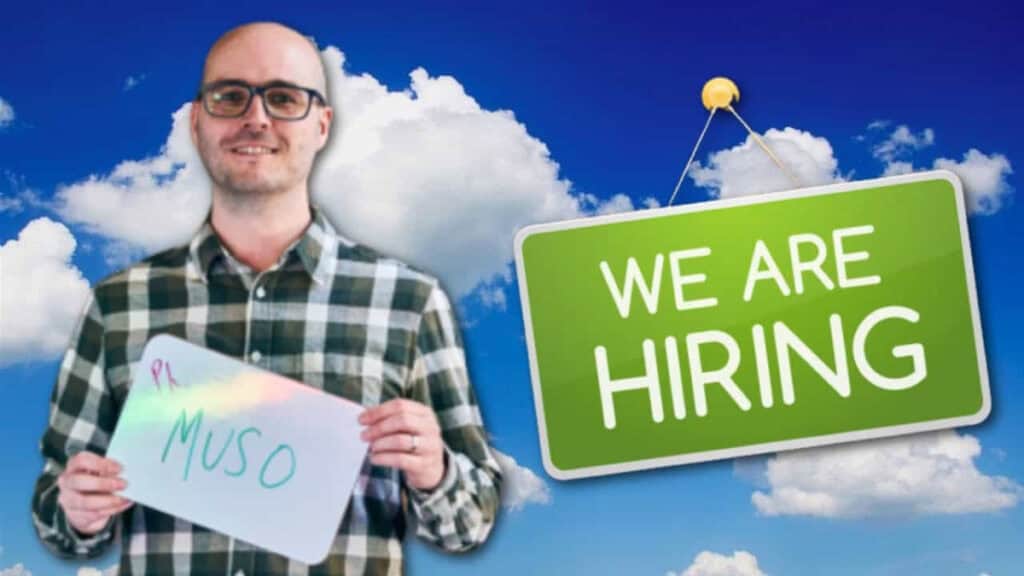
[[[120,471],[120,464],[91,452],[79,452],[68,460],[57,477],[57,502],[72,528],[91,536],[102,530],[112,516],[131,507],[134,502],[114,493],[127,486],[118,477]]]

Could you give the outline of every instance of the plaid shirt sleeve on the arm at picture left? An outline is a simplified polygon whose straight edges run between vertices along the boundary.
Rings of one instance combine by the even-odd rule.
[[[105,454],[116,421],[117,411],[104,377],[103,320],[92,296],[60,363],[50,397],[49,423],[40,442],[43,472],[32,497],[36,532],[46,547],[59,556],[96,557],[113,540],[113,519],[91,536],[71,527],[57,503],[57,477],[78,452]]]

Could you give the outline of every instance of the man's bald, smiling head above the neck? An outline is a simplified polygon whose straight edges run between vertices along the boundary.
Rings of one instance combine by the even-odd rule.
[[[225,82],[236,83],[225,91]],[[193,104],[191,136],[215,194],[255,200],[305,190],[313,158],[327,143],[333,112],[309,90],[272,91],[272,85],[308,88],[327,96],[319,54],[298,32],[278,24],[249,24],[227,32],[210,48],[201,98]],[[264,87],[268,89],[260,90]],[[284,107],[296,106],[288,102],[289,93],[309,100],[303,118],[274,117],[288,116]],[[243,107],[218,104],[230,98],[244,104],[250,95],[241,116],[225,117],[225,111],[232,116]],[[300,101],[295,110],[301,113],[305,105]]]

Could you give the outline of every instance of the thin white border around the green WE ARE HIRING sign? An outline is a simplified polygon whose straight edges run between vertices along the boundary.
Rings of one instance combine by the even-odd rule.
[[[820,435],[809,438],[795,440],[783,440],[778,442],[768,442],[762,444],[751,444],[736,448],[726,448],[720,450],[706,450],[703,452],[693,452],[674,456],[663,456],[658,458],[646,458],[622,462],[616,464],[601,464],[596,466],[585,466],[580,468],[562,469],[551,461],[551,445],[548,442],[548,429],[544,416],[544,402],[541,396],[541,376],[537,365],[537,353],[534,342],[534,326],[529,311],[529,292],[527,290],[526,271],[522,259],[522,245],[532,235],[547,232],[557,232],[574,230],[581,228],[591,228],[612,222],[627,222],[634,220],[644,220],[662,216],[676,214],[688,214],[693,212],[708,212],[735,206],[751,206],[757,204],[770,204],[792,200],[796,198],[809,198],[815,196],[828,196],[844,192],[852,192],[865,188],[878,188],[883,186],[897,186],[918,181],[928,181],[944,179],[953,187],[953,196],[956,201],[956,216],[959,224],[961,243],[964,250],[964,272],[967,279],[968,297],[970,300],[971,320],[974,326],[975,345],[977,346],[978,374],[981,380],[982,405],[981,409],[967,416],[956,416],[941,420],[929,420],[910,424],[898,424],[894,426],[882,426],[877,428]],[[971,244],[968,236],[967,211],[964,205],[964,188],[959,178],[949,170],[929,170],[927,172],[914,172],[899,176],[889,176],[884,178],[872,178],[867,180],[855,180],[852,182],[839,182],[834,184],[809,187],[799,190],[788,190],[783,192],[773,192],[755,196],[744,196],[739,198],[729,198],[725,200],[711,200],[694,204],[682,204],[679,206],[668,206],[664,208],[652,208],[618,214],[608,214],[603,216],[593,216],[588,218],[573,218],[558,222],[546,222],[530,224],[520,229],[515,235],[515,265],[516,276],[519,285],[519,301],[522,304],[523,328],[526,336],[526,352],[529,355],[529,376],[534,387],[534,409],[537,414],[537,427],[541,437],[541,458],[544,469],[552,478],[557,480],[575,480],[580,478],[590,478],[598,476],[613,475],[620,472],[645,470],[671,466],[675,464],[688,464],[694,462],[708,462],[733,458],[739,456],[753,456],[781,450],[795,450],[801,448],[812,448],[816,446],[834,445],[848,442],[864,440],[878,440],[902,436],[915,433],[931,431],[956,426],[969,426],[984,421],[992,410],[991,394],[988,382],[988,365],[985,360],[985,344],[982,339],[981,317],[978,314],[977,285],[974,277],[974,260],[971,255]]]

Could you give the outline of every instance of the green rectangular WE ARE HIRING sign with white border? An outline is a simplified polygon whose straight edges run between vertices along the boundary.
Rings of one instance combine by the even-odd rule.
[[[950,172],[527,227],[516,265],[558,479],[976,424],[990,410]]]

